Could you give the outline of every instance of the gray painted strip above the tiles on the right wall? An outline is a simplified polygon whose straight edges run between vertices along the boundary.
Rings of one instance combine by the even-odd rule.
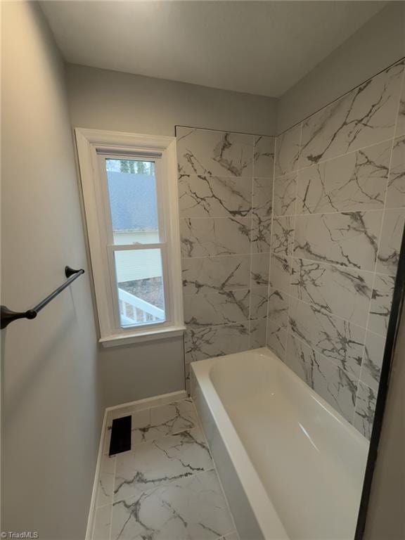
[[[277,103],[277,134],[405,56],[405,2],[393,1]]]

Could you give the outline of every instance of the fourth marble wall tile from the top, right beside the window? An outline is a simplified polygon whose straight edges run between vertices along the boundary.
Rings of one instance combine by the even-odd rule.
[[[183,259],[181,266],[184,295],[249,288],[249,255]],[[262,266],[257,268],[257,279],[260,271]]]

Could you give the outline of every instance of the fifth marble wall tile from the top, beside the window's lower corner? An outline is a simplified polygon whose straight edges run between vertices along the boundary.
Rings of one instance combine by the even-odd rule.
[[[196,328],[247,321],[249,303],[249,289],[185,296],[184,320],[188,327]]]

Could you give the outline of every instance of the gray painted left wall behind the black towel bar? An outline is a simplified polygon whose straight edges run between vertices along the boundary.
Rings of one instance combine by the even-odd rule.
[[[37,4],[1,7],[1,303],[19,310],[86,250],[63,63]],[[1,345],[1,529],[84,538],[103,412],[87,269]]]

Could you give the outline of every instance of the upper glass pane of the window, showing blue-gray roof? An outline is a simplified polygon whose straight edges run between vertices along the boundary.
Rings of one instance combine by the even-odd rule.
[[[106,159],[116,245],[158,243],[155,162]]]

